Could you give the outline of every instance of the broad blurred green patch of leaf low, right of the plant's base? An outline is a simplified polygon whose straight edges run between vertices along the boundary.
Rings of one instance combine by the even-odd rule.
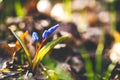
[[[47,70],[48,80],[73,80],[69,72],[64,70],[62,65],[57,63],[49,55],[43,58],[42,63],[47,69],[52,69],[52,71]]]

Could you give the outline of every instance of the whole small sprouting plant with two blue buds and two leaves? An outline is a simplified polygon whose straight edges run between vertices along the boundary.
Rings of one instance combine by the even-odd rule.
[[[18,42],[20,43],[20,45],[22,46],[22,48],[24,49],[25,53],[26,53],[26,56],[28,58],[28,62],[30,64],[30,68],[32,70],[32,72],[34,72],[36,70],[36,67],[37,65],[40,64],[40,61],[43,59],[43,57],[52,49],[54,48],[54,46],[60,42],[63,42],[65,41],[66,39],[68,39],[67,36],[62,36],[62,37],[59,37],[49,43],[47,43],[46,45],[43,45],[45,40],[47,39],[47,37],[53,32],[55,31],[57,28],[59,27],[59,25],[55,25],[53,27],[51,27],[50,29],[48,30],[45,30],[45,32],[43,33],[43,40],[42,40],[42,44],[39,45],[39,48],[36,48],[36,55],[34,57],[34,60],[32,61],[31,59],[31,56],[30,56],[30,53],[27,49],[27,47],[25,46],[24,42],[17,36],[17,34],[11,30],[10,28],[10,31],[12,32],[12,34],[17,38]],[[34,32],[34,34],[32,35],[32,38],[33,40],[37,43],[39,37],[37,35],[36,32]],[[23,61],[22,61],[23,62]],[[51,80],[57,80],[57,78],[54,76],[55,73],[54,71],[48,71],[48,73],[51,73],[51,75],[48,75]]]

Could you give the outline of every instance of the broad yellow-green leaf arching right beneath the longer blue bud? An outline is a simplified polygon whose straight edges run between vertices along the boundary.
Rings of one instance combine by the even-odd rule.
[[[40,49],[40,51],[38,52],[37,59],[35,60],[35,62],[33,62],[33,68],[35,68],[36,65],[38,65],[38,63],[43,59],[45,54],[47,54],[52,48],[54,48],[56,44],[66,40],[67,38],[68,38],[67,36],[62,36],[60,38],[57,38],[47,43],[42,49]]]

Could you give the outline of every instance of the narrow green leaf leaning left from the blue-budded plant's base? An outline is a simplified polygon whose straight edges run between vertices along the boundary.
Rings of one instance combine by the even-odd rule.
[[[17,40],[19,41],[20,45],[23,47],[23,49],[24,49],[24,51],[25,51],[25,53],[26,53],[26,55],[27,55],[28,61],[29,61],[29,63],[30,63],[30,66],[32,66],[32,60],[31,60],[31,57],[30,57],[30,53],[29,53],[28,49],[26,48],[25,44],[24,44],[23,41],[17,36],[17,34],[16,34],[14,31],[12,31],[11,29],[10,29],[10,31],[11,31],[12,34],[17,38]]]

